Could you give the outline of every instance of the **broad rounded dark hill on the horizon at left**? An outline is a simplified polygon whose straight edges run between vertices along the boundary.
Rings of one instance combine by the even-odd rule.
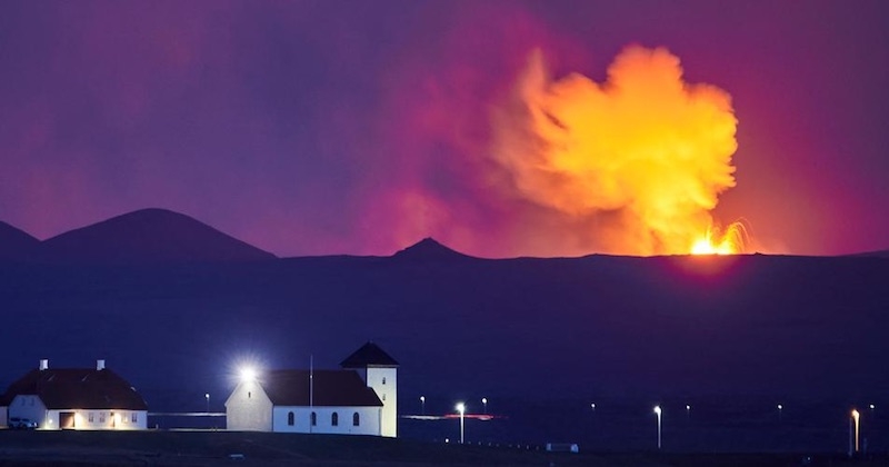
[[[186,215],[141,209],[44,240],[40,257],[77,262],[193,262],[273,259],[270,252]]]

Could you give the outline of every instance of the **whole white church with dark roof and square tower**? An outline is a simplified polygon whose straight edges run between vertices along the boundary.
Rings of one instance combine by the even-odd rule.
[[[271,370],[226,400],[229,430],[398,436],[398,361],[367,342],[338,370]]]

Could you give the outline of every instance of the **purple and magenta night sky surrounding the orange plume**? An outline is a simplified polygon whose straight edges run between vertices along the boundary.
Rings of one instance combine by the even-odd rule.
[[[601,81],[640,43],[733,98],[719,219],[882,249],[886,24],[881,0],[1,1],[0,219],[47,238],[163,207],[282,256],[536,254],[542,218],[480,157],[490,107],[535,48]]]

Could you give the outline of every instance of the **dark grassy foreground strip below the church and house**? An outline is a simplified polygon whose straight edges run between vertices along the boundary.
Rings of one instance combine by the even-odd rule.
[[[233,459],[231,455],[242,455]],[[889,465],[803,454],[545,453],[372,437],[228,431],[0,431],[0,465],[24,466],[846,466]]]

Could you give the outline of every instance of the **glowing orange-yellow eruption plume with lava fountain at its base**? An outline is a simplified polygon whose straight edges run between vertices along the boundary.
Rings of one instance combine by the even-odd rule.
[[[515,196],[592,230],[599,251],[746,251],[743,226],[711,213],[736,183],[731,97],[686,82],[668,50],[626,48],[603,83],[552,78],[535,52],[491,121]]]

